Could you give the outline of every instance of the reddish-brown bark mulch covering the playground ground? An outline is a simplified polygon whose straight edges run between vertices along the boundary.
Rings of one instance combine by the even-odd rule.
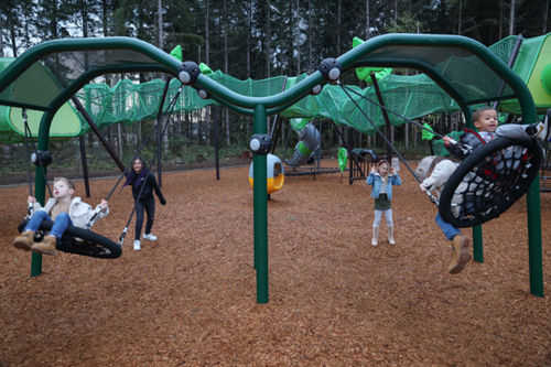
[[[538,298],[526,197],[483,226],[485,262],[450,276],[436,207],[403,165],[401,176],[393,247],[386,233],[370,245],[365,183],[285,177],[268,203],[268,304],[256,302],[248,166],[219,181],[214,170],[163,174],[158,241],[134,251],[132,223],[119,259],[58,252],[35,278],[31,255],[11,245],[29,188],[0,188],[0,366],[550,366],[551,194]],[[116,182],[93,181],[85,201]],[[94,230],[117,241],[130,197],[117,190]]]

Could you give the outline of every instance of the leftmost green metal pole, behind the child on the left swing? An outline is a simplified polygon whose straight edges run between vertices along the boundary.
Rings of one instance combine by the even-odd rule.
[[[50,139],[50,126],[52,125],[52,119],[55,112],[46,112],[42,116],[42,121],[39,127],[39,143],[37,150],[47,150],[47,143]],[[44,173],[47,173],[47,169],[44,169]],[[36,173],[34,175],[34,197],[41,203],[42,206],[46,203],[46,181],[44,180],[45,174],[42,174],[36,168]],[[42,273],[42,253],[32,252],[31,257],[31,277],[37,277]]]

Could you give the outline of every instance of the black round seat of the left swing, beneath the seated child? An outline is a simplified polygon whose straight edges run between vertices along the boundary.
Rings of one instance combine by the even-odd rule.
[[[28,220],[22,222],[18,226],[18,230],[21,233]],[[40,229],[50,230],[52,229],[53,222],[43,220]],[[99,259],[116,259],[122,255],[122,248],[101,235],[93,233],[91,230],[78,228],[74,226],[67,226],[65,229],[65,235],[71,236],[71,239],[63,238],[58,241],[55,249],[63,252],[76,253],[82,256],[89,256]],[[75,238],[82,239],[82,241]]]

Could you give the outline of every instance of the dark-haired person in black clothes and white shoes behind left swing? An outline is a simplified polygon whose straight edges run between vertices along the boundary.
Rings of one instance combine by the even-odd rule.
[[[142,158],[137,156],[132,162],[132,170],[127,176],[127,182],[122,187],[131,185],[132,195],[136,202],[136,240],[134,250],[139,250],[140,247],[140,235],[141,227],[143,225],[143,212],[148,214],[148,223],[145,224],[145,233],[143,234],[143,239],[150,241],[156,240],[156,237],[151,234],[151,227],[153,227],[153,220],[155,220],[155,198],[153,197],[153,191],[159,197],[161,205],[166,205],[166,201],[163,197],[163,193],[156,183],[155,175],[149,172],[145,166],[145,162]]]

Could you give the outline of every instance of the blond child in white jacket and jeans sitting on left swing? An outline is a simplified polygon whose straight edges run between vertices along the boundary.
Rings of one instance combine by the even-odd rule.
[[[33,203],[34,214],[21,236],[15,237],[13,240],[15,248],[24,251],[32,250],[39,253],[55,255],[55,246],[64,237],[68,225],[86,228],[86,223],[95,212],[90,205],[82,202],[80,197],[73,197],[75,194],[73,182],[64,177],[54,179],[53,194],[54,197],[50,198],[44,207],[36,202],[35,197],[29,196],[29,202]],[[101,209],[94,218],[94,223],[99,222],[109,214],[109,207],[105,199],[101,199],[101,203],[96,208]],[[34,234],[39,230],[42,220],[50,220],[54,224],[50,234],[44,236],[42,241],[35,244]]]

